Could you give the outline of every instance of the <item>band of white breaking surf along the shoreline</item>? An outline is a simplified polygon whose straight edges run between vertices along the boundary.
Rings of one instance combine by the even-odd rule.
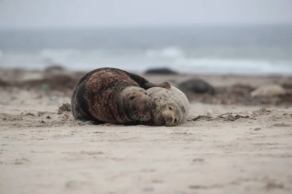
[[[43,49],[35,53],[0,52],[0,66],[42,69],[49,63],[62,64],[72,70],[116,67],[145,71],[166,66],[182,73],[282,74],[292,75],[292,62],[252,59],[186,58],[176,47],[147,50],[79,50]]]

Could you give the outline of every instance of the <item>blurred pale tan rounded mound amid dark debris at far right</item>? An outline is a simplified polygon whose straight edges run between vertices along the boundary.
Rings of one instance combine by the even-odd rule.
[[[257,87],[251,92],[251,97],[277,97],[285,95],[286,90],[277,84],[267,84]]]

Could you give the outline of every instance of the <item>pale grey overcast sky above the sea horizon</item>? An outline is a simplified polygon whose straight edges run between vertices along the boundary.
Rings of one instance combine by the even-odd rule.
[[[292,23],[292,0],[0,0],[0,27]]]

